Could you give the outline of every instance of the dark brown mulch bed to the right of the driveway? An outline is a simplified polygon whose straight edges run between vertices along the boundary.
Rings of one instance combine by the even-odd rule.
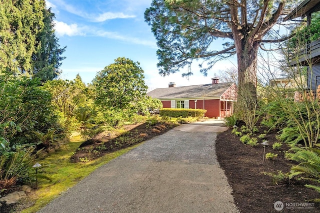
[[[262,128],[261,128],[262,129]],[[262,130],[263,131],[263,130]],[[257,133],[258,135],[259,133]],[[266,173],[286,173],[294,162],[284,159],[283,147],[280,151],[272,149],[277,142],[276,132],[267,134],[265,140],[270,144],[265,153],[274,153],[278,156],[274,160],[264,160],[263,146],[251,147],[239,141],[239,137],[231,131],[219,133],[216,139],[217,160],[225,171],[228,182],[233,189],[234,202],[241,213],[320,213],[320,205],[310,200],[320,195],[312,189],[304,187],[304,183],[272,183]],[[261,142],[259,142],[261,143]],[[283,210],[276,211],[274,203],[281,201]],[[308,203],[308,204],[306,204]],[[314,205],[314,208],[303,208],[297,205]]]

